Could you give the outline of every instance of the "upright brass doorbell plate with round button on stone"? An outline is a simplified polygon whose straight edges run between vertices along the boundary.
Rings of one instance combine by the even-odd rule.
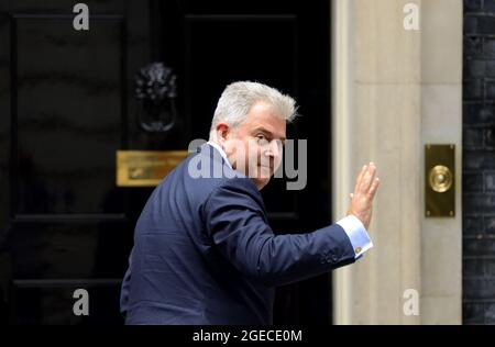
[[[425,215],[455,216],[455,145],[425,146]]]

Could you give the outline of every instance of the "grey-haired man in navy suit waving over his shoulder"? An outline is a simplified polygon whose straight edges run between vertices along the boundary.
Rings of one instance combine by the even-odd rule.
[[[294,116],[295,101],[273,88],[226,88],[210,142],[161,182],[136,223],[121,294],[127,324],[271,324],[276,286],[354,262],[373,246],[373,164],[358,176],[348,216],[274,235],[260,190]]]

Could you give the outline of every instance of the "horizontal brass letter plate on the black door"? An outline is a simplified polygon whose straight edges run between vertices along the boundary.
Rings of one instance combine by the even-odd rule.
[[[117,187],[154,187],[189,153],[187,150],[117,150]]]

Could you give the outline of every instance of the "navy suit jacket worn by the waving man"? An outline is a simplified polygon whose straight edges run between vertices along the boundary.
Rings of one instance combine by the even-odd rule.
[[[189,165],[224,175],[196,178]],[[256,186],[234,174],[204,144],[154,190],[122,283],[127,324],[271,324],[276,286],[354,261],[337,224],[274,235]]]

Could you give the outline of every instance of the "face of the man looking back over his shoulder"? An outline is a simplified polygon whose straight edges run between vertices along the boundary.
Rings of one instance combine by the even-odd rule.
[[[218,128],[218,125],[217,125]],[[232,167],[265,187],[282,163],[286,121],[264,102],[255,103],[246,120],[227,131],[223,148]]]

